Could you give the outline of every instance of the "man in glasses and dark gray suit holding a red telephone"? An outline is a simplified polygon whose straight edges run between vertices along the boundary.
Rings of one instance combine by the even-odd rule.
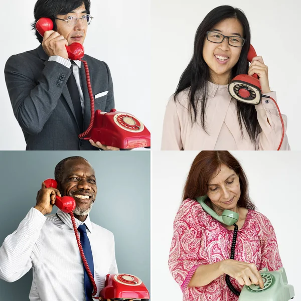
[[[36,22],[47,17],[54,31],[34,50],[11,56],[5,66],[5,80],[14,114],[23,130],[27,150],[117,150],[116,147],[81,140],[78,135],[90,123],[90,98],[83,63],[70,61],[66,46],[83,44],[92,18],[90,0],[38,0]],[[105,62],[88,55],[87,61],[95,110],[114,108],[113,83]]]

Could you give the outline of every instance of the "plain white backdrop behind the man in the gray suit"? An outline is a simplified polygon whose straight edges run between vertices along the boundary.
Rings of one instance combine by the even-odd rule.
[[[4,78],[8,58],[37,48],[30,24],[36,0],[11,0],[2,22],[0,150],[25,149],[26,143],[11,107]],[[85,53],[105,61],[114,85],[115,108],[135,115],[150,130],[150,0],[91,0],[94,19],[88,27]]]

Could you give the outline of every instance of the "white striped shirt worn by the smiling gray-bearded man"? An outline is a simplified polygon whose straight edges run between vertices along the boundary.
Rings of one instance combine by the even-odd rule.
[[[90,240],[97,296],[104,287],[106,274],[117,273],[113,234],[84,222]],[[80,235],[80,234],[79,234]],[[78,250],[71,217],[60,209],[44,216],[31,208],[18,229],[0,248],[0,278],[13,282],[33,267],[32,301],[85,301],[84,267]]]

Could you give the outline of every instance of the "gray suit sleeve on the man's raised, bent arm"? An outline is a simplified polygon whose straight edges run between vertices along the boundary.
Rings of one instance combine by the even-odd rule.
[[[23,56],[13,55],[9,58],[4,71],[5,80],[20,126],[29,134],[38,134],[55,109],[71,70],[60,63],[46,61],[41,75],[35,81],[35,70],[31,69]]]

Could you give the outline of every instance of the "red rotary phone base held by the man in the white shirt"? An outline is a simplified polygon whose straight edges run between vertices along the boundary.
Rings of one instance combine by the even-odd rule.
[[[99,295],[104,299],[148,301],[149,293],[141,279],[131,274],[107,274]]]

